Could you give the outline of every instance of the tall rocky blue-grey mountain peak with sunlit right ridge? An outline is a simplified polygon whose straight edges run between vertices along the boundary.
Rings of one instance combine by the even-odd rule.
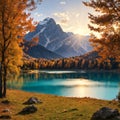
[[[39,22],[25,39],[30,41],[35,37],[39,38],[39,45],[63,57],[80,56],[92,50],[89,36],[66,33],[52,18]]]

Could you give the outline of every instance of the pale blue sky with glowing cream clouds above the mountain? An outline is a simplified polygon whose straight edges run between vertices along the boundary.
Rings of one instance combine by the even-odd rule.
[[[83,0],[43,0],[37,9],[32,12],[32,17],[39,22],[46,17],[53,18],[60,24],[65,32],[80,35],[89,35],[88,13],[91,8],[84,6]],[[88,0],[84,0],[88,1]]]

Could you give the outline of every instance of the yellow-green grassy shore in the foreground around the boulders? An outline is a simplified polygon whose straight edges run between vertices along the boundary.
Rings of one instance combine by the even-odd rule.
[[[37,97],[43,103],[36,104],[38,111],[28,115],[18,115],[26,106],[23,105],[30,97]],[[10,104],[2,104],[2,100],[9,100]],[[0,115],[10,115],[12,120],[90,120],[92,114],[101,107],[119,109],[120,103],[116,101],[105,101],[92,98],[68,98],[54,95],[45,95],[24,92],[19,90],[8,90],[7,98],[0,99]],[[3,109],[10,112],[3,113]]]

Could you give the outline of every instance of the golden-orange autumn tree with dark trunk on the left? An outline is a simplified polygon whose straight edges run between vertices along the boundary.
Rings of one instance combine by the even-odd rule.
[[[6,80],[22,65],[22,42],[33,30],[30,11],[41,0],[0,0],[0,98],[6,96]]]

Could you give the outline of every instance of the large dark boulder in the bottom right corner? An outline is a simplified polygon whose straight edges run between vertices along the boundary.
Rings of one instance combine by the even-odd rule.
[[[117,109],[103,107],[93,114],[91,120],[120,120],[120,114]]]

